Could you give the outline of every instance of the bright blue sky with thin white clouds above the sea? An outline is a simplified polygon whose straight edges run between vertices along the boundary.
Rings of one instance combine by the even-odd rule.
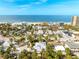
[[[79,0],[0,0],[0,15],[79,15]]]

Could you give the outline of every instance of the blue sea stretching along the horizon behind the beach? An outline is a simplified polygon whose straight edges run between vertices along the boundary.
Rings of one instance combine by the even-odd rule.
[[[0,22],[71,22],[66,15],[0,15]]]

